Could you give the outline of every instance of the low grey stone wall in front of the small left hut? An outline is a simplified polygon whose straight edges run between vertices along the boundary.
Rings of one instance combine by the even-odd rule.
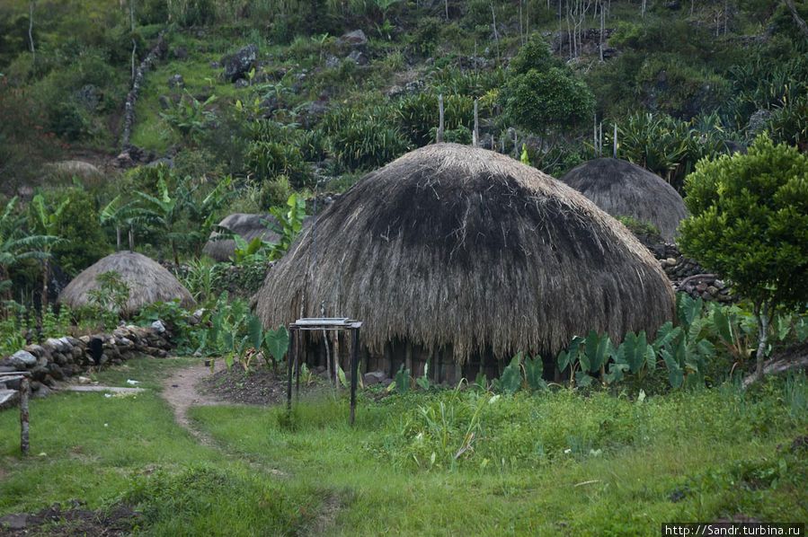
[[[93,339],[102,343],[102,355],[96,364]],[[58,381],[82,374],[91,366],[120,364],[132,357],[147,355],[167,357],[173,348],[171,333],[160,321],[150,327],[122,326],[111,334],[95,334],[80,338],[47,339],[41,345],[28,345],[10,357],[0,359],[0,372],[30,371],[31,392],[35,397],[49,394]],[[19,381],[17,382],[19,383]],[[9,383],[7,383],[9,384]],[[2,389],[17,389],[17,385],[0,383]]]

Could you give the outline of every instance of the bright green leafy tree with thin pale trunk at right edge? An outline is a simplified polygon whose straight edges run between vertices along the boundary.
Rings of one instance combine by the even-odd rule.
[[[681,249],[750,298],[760,379],[777,308],[808,301],[808,156],[764,134],[748,154],[697,163],[685,190]]]

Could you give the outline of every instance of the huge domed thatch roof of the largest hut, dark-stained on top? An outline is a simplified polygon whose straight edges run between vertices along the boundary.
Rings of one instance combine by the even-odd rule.
[[[551,357],[589,330],[619,340],[672,318],[668,278],[623,224],[484,149],[405,154],[326,208],[315,229],[315,248],[306,228],[255,297],[268,327],[318,317],[324,301],[327,314],[364,321],[372,354],[399,339],[450,346],[462,364],[486,351]]]

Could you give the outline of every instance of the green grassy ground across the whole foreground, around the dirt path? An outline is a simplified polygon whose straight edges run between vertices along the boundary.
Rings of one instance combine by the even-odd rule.
[[[188,363],[136,360],[100,380],[157,388]],[[154,392],[59,394],[32,403],[28,460],[16,413],[0,414],[0,515],[123,499],[146,533],[172,535],[652,535],[739,514],[805,521],[808,452],[791,445],[808,432],[806,394],[804,381],[644,401],[411,393],[363,398],[354,428],[342,398],[301,402],[291,417],[193,409],[217,448],[175,426]]]

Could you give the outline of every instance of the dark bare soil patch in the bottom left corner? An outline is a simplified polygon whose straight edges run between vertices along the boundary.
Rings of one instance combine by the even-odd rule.
[[[35,515],[0,517],[0,535],[129,535],[141,524],[141,515],[126,505],[90,511],[81,508],[80,502],[73,503],[66,510],[55,504]]]

